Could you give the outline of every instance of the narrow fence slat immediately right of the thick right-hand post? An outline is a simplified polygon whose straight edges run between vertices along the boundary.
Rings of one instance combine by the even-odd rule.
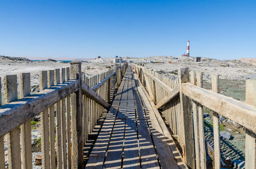
[[[196,84],[195,71],[190,72],[191,84]],[[199,145],[199,126],[198,126],[198,107],[196,103],[192,102],[193,108],[193,121],[194,121],[194,137],[195,137],[195,158],[196,168],[200,168],[200,145]]]

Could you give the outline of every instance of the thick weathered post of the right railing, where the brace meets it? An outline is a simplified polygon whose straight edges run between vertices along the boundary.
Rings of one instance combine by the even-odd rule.
[[[191,113],[191,101],[182,94],[182,83],[189,82],[189,69],[179,69],[180,85],[180,145],[182,147],[183,158],[190,168],[195,168],[195,148],[193,138],[193,122]]]

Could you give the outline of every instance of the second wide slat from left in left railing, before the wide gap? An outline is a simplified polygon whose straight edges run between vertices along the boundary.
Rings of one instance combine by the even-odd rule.
[[[25,96],[29,96],[29,95],[30,95],[30,73],[20,73],[20,98],[24,98]],[[32,169],[30,120],[20,125],[20,142],[21,142],[21,148],[22,148],[21,149],[22,168]]]

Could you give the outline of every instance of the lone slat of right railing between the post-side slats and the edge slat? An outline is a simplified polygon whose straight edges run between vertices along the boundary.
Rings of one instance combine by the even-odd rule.
[[[211,75],[212,91],[219,92],[219,75]],[[214,166],[220,169],[220,119],[216,112],[212,114],[214,136]]]

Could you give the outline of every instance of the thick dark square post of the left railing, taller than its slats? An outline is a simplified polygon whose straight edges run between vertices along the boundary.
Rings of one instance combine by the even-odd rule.
[[[81,91],[81,62],[70,62],[70,79],[79,80],[79,90],[71,94],[72,108],[72,168],[83,168],[83,112]]]

